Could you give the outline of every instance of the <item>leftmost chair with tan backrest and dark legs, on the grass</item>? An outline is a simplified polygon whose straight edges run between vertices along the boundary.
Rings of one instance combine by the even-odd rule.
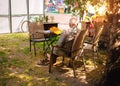
[[[43,33],[40,33],[40,31],[44,31],[44,26],[40,22],[29,22],[28,23],[29,28],[29,42],[30,42],[30,51],[32,48],[32,43],[34,47],[34,54],[36,56],[36,43],[43,42],[43,50],[45,50],[45,44],[47,43],[48,35],[46,36]]]

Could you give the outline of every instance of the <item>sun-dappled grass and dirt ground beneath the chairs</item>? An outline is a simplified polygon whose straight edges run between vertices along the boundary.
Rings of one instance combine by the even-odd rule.
[[[100,51],[97,68],[93,66],[90,52],[86,54],[87,71],[78,64],[77,78],[66,65],[60,67],[60,59],[53,73],[48,73],[48,65],[38,66],[43,59],[42,44],[37,45],[37,56],[29,52],[28,33],[0,34],[0,86],[97,86],[105,64],[105,51]],[[87,51],[88,52],[88,51]]]

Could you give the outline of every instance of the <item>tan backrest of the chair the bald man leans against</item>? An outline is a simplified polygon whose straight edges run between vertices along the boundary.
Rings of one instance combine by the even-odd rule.
[[[73,53],[71,55],[73,58],[81,53],[87,33],[88,33],[88,29],[79,31],[77,33],[75,40],[73,42],[73,45],[72,45]]]

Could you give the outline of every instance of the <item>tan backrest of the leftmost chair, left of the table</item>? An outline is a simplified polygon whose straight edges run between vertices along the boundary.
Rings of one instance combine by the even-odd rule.
[[[37,33],[39,30],[44,30],[43,24],[40,22],[29,22],[29,35],[30,38],[44,38],[44,34]]]

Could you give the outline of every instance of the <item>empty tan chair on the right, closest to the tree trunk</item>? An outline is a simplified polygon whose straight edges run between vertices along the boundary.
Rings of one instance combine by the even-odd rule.
[[[98,57],[98,43],[99,43],[99,39],[102,34],[102,31],[103,31],[103,25],[95,29],[95,35],[92,41],[85,41],[84,43],[84,51],[92,50],[93,52],[94,67],[96,67],[96,56]]]

